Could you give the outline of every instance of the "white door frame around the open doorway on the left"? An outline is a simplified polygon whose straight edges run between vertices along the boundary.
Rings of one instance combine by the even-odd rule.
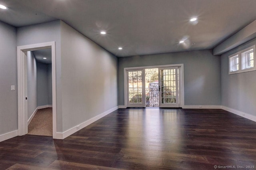
[[[56,45],[55,42],[37,43],[17,47],[18,69],[18,135],[28,133],[27,65],[26,52],[52,48],[52,135],[57,136],[56,119]]]

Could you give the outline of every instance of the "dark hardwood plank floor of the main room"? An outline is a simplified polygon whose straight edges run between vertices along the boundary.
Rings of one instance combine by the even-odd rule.
[[[24,135],[0,142],[0,169],[214,165],[256,169],[256,122],[221,109],[118,109],[64,140]]]

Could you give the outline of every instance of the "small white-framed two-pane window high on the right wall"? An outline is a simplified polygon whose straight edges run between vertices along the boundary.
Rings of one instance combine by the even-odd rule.
[[[229,74],[254,71],[255,45],[229,56]]]

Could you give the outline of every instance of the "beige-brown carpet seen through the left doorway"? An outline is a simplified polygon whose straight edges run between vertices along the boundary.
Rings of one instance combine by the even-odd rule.
[[[52,108],[39,109],[30,124],[28,134],[52,136]]]

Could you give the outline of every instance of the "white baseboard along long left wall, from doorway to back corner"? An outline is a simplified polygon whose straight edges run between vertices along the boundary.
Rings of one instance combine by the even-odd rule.
[[[116,107],[114,107],[114,108],[112,108],[112,109],[110,109],[110,110],[108,110],[108,111],[106,111],[104,113],[101,113],[100,115],[98,115],[96,117],[93,117],[92,119],[89,119],[88,121],[85,121],[84,123],[76,125],[75,127],[72,127],[70,129],[66,130],[65,132],[62,132],[62,133],[61,132],[57,132],[55,138],[56,139],[64,139],[64,138],[70,136],[71,134],[77,132],[78,130],[80,130],[80,129],[82,129],[82,128],[84,128],[84,127],[86,127],[86,126],[88,126],[88,125],[90,125],[92,123],[94,123],[95,121],[98,121],[100,118],[102,118],[102,117],[112,113],[113,111],[115,111],[117,109],[118,109],[118,106],[116,106]]]

